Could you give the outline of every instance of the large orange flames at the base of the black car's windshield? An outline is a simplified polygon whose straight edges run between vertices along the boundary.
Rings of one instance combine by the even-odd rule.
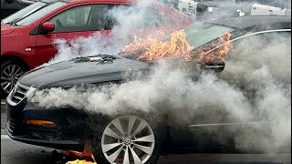
[[[205,63],[214,59],[214,57],[226,57],[232,47],[230,33],[219,36],[211,46],[193,50],[193,46],[187,42],[183,30],[174,31],[168,41],[161,41],[165,33],[160,32],[159,35],[149,35],[144,39],[134,36],[133,42],[124,47],[122,54],[126,56],[140,53],[141,55],[137,57],[138,60],[153,60],[165,56],[183,56],[187,61]]]

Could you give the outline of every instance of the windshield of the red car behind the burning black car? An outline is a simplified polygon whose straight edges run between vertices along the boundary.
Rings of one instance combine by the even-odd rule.
[[[18,22],[16,22],[16,24],[17,24],[17,26],[26,26],[26,25],[32,24],[40,17],[47,15],[48,13],[56,10],[57,8],[59,8],[63,5],[66,5],[66,4],[64,2],[56,2],[56,3],[53,3],[51,5],[47,5],[46,7],[41,8],[37,12],[35,12],[31,15],[28,15],[25,18],[19,20]]]

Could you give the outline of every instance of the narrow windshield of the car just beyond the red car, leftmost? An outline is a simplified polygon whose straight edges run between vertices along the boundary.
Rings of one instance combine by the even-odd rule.
[[[7,23],[10,23],[12,21],[19,20],[23,17],[26,17],[27,15],[30,15],[30,14],[36,12],[36,10],[38,10],[40,7],[42,7],[44,5],[46,5],[46,3],[43,3],[43,2],[36,2],[32,5],[28,5],[28,6],[26,6],[26,8],[19,10],[15,14],[5,17],[5,19],[3,19],[1,22],[4,24],[7,24]]]

